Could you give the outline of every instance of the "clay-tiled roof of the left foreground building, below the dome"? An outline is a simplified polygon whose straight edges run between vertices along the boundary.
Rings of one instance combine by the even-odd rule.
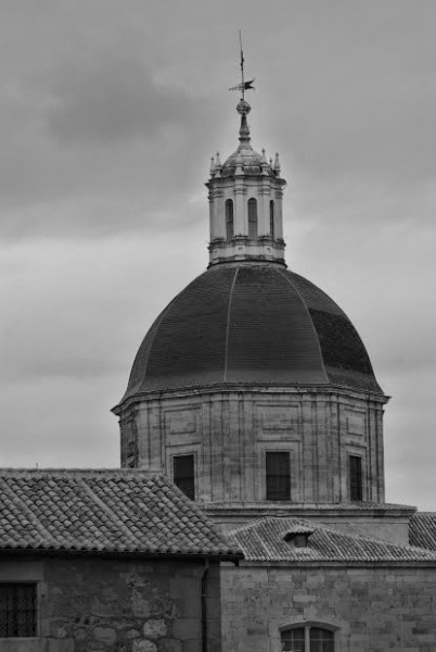
[[[5,550],[241,556],[169,480],[127,469],[0,469]]]

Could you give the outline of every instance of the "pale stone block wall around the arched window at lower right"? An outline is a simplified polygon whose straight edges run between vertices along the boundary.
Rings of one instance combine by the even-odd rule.
[[[222,649],[279,652],[299,623],[335,630],[335,652],[434,652],[436,568],[222,568]]]

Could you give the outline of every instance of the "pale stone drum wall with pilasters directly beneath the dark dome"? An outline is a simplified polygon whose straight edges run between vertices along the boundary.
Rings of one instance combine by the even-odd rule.
[[[285,451],[291,500],[325,503],[349,500],[357,455],[363,500],[384,502],[383,404],[313,387],[161,392],[123,409],[121,465],[172,477],[172,457],[193,454],[196,500],[262,502],[266,452]]]

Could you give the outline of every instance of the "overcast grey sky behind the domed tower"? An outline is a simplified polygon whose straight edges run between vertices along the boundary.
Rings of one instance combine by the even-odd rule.
[[[207,265],[210,155],[280,151],[287,263],[359,330],[387,500],[436,510],[436,2],[3,0],[3,466],[117,466],[157,313]]]

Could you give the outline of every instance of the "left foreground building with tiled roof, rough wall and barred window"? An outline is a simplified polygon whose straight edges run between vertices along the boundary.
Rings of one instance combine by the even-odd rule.
[[[162,476],[0,471],[1,652],[220,652],[236,547]]]

